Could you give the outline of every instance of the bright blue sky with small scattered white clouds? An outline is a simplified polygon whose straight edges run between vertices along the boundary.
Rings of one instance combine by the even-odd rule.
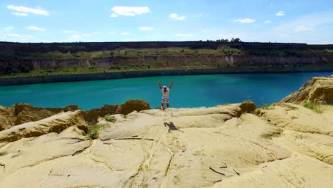
[[[0,41],[333,43],[333,1],[0,1]]]

